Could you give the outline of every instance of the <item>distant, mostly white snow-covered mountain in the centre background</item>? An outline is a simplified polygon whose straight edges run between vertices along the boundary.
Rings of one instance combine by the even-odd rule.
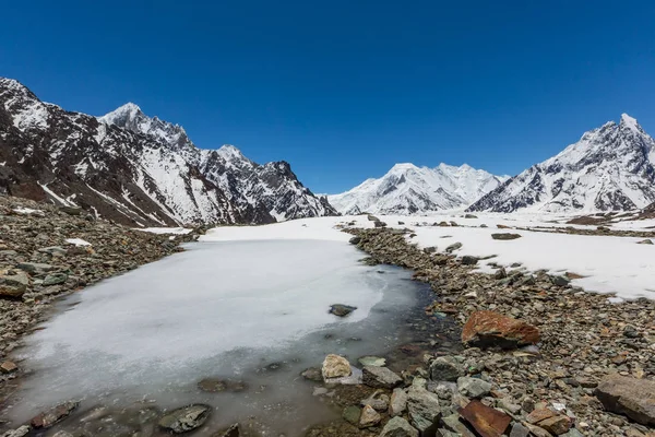
[[[327,200],[344,214],[417,214],[468,206],[505,179],[466,164],[434,168],[396,164],[381,178],[367,179]]]

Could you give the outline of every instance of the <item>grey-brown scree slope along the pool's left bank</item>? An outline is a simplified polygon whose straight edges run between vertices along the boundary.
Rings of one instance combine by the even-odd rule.
[[[0,196],[0,400],[17,388],[8,356],[45,320],[55,299],[183,250],[198,238],[155,235],[76,208]]]

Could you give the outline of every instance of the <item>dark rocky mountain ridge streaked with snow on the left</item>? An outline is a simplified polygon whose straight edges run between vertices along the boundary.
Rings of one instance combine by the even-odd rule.
[[[40,102],[0,79],[0,192],[79,205],[128,225],[271,223],[336,214],[288,163],[200,150],[134,104],[103,117]]]

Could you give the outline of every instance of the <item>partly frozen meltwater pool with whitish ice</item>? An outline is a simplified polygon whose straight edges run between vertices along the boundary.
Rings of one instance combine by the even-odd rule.
[[[31,373],[2,417],[17,426],[74,400],[75,413],[43,435],[143,437],[165,435],[162,412],[201,403],[212,412],[198,436],[236,422],[302,435],[340,413],[303,369],[330,353],[357,365],[425,338],[416,320],[427,286],[364,256],[340,241],[192,244],[71,295],[16,352]],[[333,304],[357,309],[338,318]]]

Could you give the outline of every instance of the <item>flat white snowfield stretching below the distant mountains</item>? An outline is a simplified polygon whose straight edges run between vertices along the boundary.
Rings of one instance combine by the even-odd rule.
[[[537,229],[567,227],[595,228],[590,225],[569,225],[567,214],[477,213],[477,218],[464,218],[463,213],[436,213],[428,216],[378,215],[390,227],[413,229],[415,238],[408,239],[419,247],[436,246],[443,251],[453,243],[462,243],[457,256],[496,256],[480,261],[478,270],[492,272],[487,262],[501,265],[522,263],[528,271],[547,270],[551,274],[577,273],[585,277],[573,280],[572,285],[588,292],[616,294],[624,299],[655,298],[655,245],[638,245],[643,238],[556,234]],[[454,221],[457,227],[439,227],[433,224]],[[264,226],[217,227],[201,237],[206,241],[261,240],[261,239],[331,239],[347,240],[352,236],[334,226],[355,222],[355,227],[372,227],[366,215],[317,217]],[[398,222],[404,222],[400,225]],[[480,225],[486,224],[484,228]],[[497,225],[522,229],[499,229]],[[626,221],[610,225],[616,229],[652,231],[655,220]],[[534,231],[524,231],[532,228]],[[495,233],[517,233],[515,240],[495,240]]]

